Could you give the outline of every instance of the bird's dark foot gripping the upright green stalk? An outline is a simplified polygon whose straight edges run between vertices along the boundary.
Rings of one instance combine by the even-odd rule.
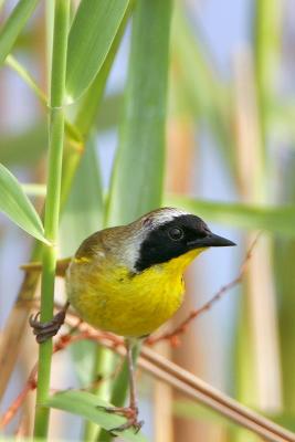
[[[65,314],[66,309],[62,309],[46,323],[41,323],[39,320],[40,312],[30,316],[29,324],[33,328],[33,334],[35,335],[35,340],[38,344],[45,343],[45,340],[56,335],[64,323]]]

